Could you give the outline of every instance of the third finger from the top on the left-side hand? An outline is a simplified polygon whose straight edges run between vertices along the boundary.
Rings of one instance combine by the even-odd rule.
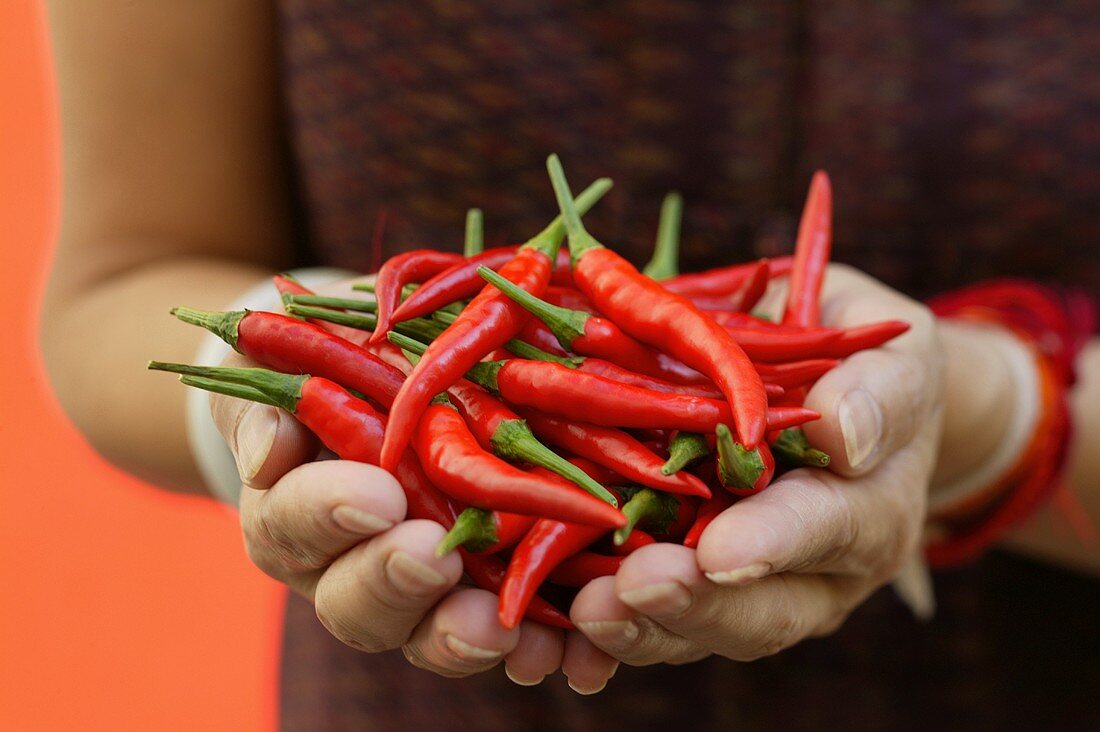
[[[437,523],[407,521],[341,555],[317,582],[321,624],[360,651],[403,645],[462,576],[458,554],[436,557],[443,534]]]

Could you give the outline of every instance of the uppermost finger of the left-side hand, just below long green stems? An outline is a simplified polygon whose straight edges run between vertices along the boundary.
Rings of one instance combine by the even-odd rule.
[[[254,368],[256,364],[233,353],[222,365]],[[266,404],[210,395],[210,413],[226,439],[241,482],[265,489],[293,468],[317,457],[317,438],[293,415]]]

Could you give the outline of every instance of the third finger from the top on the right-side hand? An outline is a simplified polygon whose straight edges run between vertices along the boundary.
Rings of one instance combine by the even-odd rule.
[[[846,578],[792,573],[719,587],[707,581],[693,555],[670,544],[638,549],[616,575],[618,598],[669,633],[736,660],[834,631],[867,591]]]

